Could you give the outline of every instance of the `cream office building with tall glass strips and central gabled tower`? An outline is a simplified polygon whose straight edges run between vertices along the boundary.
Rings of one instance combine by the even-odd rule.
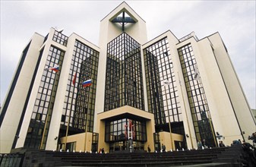
[[[146,22],[122,2],[100,20],[99,41],[33,34],[1,109],[1,153],[217,147],[255,130],[220,33],[148,41]]]

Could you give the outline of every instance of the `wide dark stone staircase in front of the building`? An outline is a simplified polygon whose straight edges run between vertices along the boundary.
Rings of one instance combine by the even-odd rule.
[[[24,154],[24,167],[105,166],[234,166],[242,167],[242,146],[164,153],[71,153],[47,150],[16,150]],[[5,166],[5,165],[1,165]]]

